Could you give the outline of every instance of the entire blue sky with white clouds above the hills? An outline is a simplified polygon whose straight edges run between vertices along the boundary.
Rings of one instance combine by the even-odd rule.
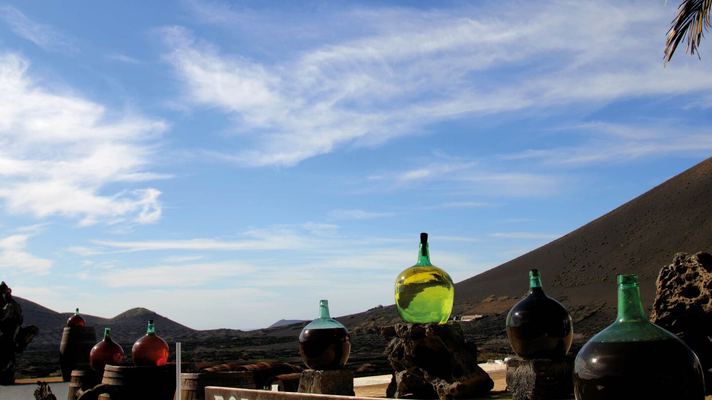
[[[712,155],[676,5],[0,3],[0,277],[198,329],[392,304],[422,231],[469,278]]]

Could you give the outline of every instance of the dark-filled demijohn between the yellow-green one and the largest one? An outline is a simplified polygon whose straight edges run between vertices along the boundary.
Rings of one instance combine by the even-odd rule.
[[[514,352],[524,359],[560,359],[573,339],[569,311],[541,287],[539,270],[529,271],[529,295],[507,315],[507,337]]]

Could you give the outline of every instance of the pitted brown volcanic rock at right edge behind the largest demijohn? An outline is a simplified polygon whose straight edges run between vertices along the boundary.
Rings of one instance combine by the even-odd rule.
[[[692,349],[712,394],[712,255],[677,253],[660,270],[650,320],[673,332]]]

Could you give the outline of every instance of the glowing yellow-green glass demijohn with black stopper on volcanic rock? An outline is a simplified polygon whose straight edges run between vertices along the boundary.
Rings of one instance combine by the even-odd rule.
[[[428,234],[420,234],[418,263],[398,275],[396,307],[405,322],[444,324],[450,318],[455,288],[444,270],[430,263]]]

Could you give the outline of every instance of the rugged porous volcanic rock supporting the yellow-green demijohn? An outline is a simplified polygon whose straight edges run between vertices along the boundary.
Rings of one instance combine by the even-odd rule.
[[[387,396],[400,399],[471,399],[494,382],[477,365],[477,346],[466,342],[459,322],[382,327],[394,377]]]

